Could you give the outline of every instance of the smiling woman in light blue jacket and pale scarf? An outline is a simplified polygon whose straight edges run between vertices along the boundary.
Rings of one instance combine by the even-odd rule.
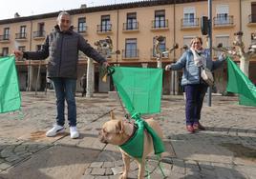
[[[203,50],[201,37],[191,40],[190,49],[184,51],[181,58],[171,65],[167,65],[165,70],[183,70],[181,86],[185,91],[185,119],[186,129],[194,133],[197,129],[205,129],[200,123],[203,98],[208,88],[201,78],[201,67],[208,70],[216,70],[224,63],[224,55],[217,61],[210,59],[209,50]]]

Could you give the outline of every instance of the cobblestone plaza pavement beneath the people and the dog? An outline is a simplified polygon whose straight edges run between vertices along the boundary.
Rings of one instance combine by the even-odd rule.
[[[114,179],[123,163],[117,147],[98,141],[97,133],[109,111],[123,115],[107,94],[91,99],[77,93],[78,139],[69,129],[47,138],[55,118],[54,93],[22,93],[22,113],[0,114],[0,179]],[[206,98],[205,98],[206,99]],[[163,96],[161,112],[153,115],[164,133],[166,152],[161,167],[166,178],[256,178],[256,108],[239,106],[237,97],[212,96],[203,107],[206,130],[189,134],[184,125],[182,96]],[[149,116],[145,116],[149,117]],[[67,126],[67,125],[66,125]],[[147,160],[152,179],[163,178],[154,155]],[[138,166],[131,164],[130,178]]]

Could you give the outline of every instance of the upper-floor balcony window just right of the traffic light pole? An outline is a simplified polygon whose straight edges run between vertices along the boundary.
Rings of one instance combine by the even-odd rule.
[[[229,11],[228,5],[217,5],[216,6],[216,19],[215,19],[214,24],[216,24],[216,25],[230,24],[228,11]]]

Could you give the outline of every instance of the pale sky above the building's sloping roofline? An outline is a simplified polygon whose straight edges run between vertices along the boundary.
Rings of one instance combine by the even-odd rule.
[[[20,16],[30,16],[78,9],[82,4],[86,4],[87,7],[96,7],[136,1],[139,0],[1,0],[0,20],[13,18],[15,12]]]

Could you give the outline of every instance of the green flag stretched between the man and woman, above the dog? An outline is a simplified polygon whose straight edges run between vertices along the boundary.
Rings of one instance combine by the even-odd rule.
[[[126,109],[132,115],[160,112],[162,70],[114,68],[114,84]]]

